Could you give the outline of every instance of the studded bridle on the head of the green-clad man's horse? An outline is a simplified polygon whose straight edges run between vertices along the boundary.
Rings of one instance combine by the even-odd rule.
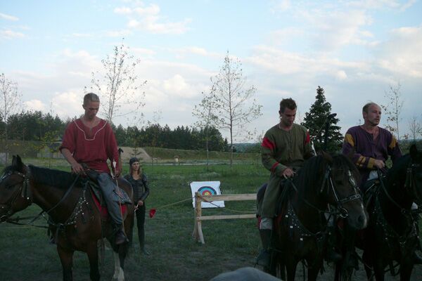
[[[353,190],[355,192],[353,195],[340,199],[340,197],[338,196],[338,192],[334,188],[333,178],[331,177],[330,165],[328,165],[328,168],[326,170],[326,174],[324,176],[324,181],[322,182],[321,191],[320,191],[320,192],[324,192],[325,183],[327,183],[327,192],[328,192],[328,188],[331,187],[331,190],[333,190],[333,194],[335,197],[335,204],[337,205],[336,207],[338,208],[340,212],[340,216],[342,218],[347,218],[347,216],[349,216],[349,211],[347,211],[347,209],[343,207],[343,204],[353,201],[353,200],[359,200],[362,198],[362,196],[359,193],[359,189],[357,188],[357,183],[356,181],[354,181],[352,172],[350,170],[347,171],[347,176],[349,176],[349,183],[352,185]]]

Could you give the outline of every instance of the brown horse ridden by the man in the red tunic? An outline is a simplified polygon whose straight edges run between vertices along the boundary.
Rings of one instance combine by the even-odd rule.
[[[119,181],[119,186],[126,190],[132,200],[130,185]],[[72,280],[74,251],[87,253],[91,280],[99,280],[97,242],[102,237],[107,237],[110,241],[113,227],[110,222],[103,221],[89,188],[84,188],[74,174],[26,166],[19,156],[13,156],[11,166],[4,169],[0,179],[0,222],[27,208],[32,202],[48,213],[59,228],[56,244],[63,266],[63,280]],[[133,217],[133,204],[127,205],[124,229],[129,239]],[[114,278],[124,280],[124,258],[129,243],[119,247],[113,244],[112,246],[115,250]]]

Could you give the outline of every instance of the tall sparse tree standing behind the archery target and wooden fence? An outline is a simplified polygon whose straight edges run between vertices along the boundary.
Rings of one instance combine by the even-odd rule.
[[[214,105],[212,124],[230,133],[230,166],[233,164],[234,137],[250,133],[244,130],[246,124],[261,115],[262,105],[258,105],[255,98],[250,100],[255,95],[255,86],[245,89],[245,83],[240,60],[230,58],[227,52],[219,74],[211,77],[208,98]]]

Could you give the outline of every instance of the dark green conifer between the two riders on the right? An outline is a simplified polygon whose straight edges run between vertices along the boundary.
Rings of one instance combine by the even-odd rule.
[[[328,152],[338,151],[343,141],[340,133],[340,126],[336,126],[338,119],[328,116],[331,115],[331,103],[326,101],[324,89],[318,86],[316,89],[315,102],[311,105],[309,112],[305,113],[305,118],[301,123],[309,129],[309,135],[313,139],[315,149],[324,148],[323,140],[327,137],[326,150]],[[328,122],[328,136],[326,136],[325,123]]]

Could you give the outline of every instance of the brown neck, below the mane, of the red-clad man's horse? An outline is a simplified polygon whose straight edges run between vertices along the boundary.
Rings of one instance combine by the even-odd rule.
[[[65,221],[72,214],[73,208],[79,198],[79,192],[77,190],[77,188],[73,188],[65,200],[60,202],[67,190],[39,183],[32,183],[31,185],[34,204],[37,204],[43,211],[49,212],[53,221],[56,222]],[[55,207],[56,205],[57,207]]]

